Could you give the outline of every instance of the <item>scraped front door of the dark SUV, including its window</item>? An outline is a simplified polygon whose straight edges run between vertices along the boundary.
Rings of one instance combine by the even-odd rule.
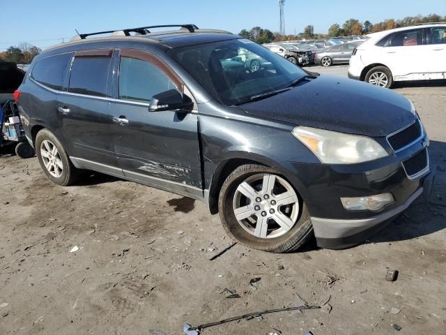
[[[197,112],[149,112],[155,94],[181,82],[148,52],[122,50],[111,104],[114,150],[129,179],[167,191],[202,196]]]

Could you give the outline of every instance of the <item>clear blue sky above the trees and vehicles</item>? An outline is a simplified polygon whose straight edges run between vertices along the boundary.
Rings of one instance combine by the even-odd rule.
[[[194,23],[203,28],[238,33],[254,26],[279,31],[277,0],[2,0],[0,51],[29,42],[38,47],[80,33],[140,27],[153,24]],[[5,3],[6,2],[6,3]],[[68,4],[70,6],[68,6]],[[417,14],[446,15],[446,0],[286,0],[286,33],[314,25],[326,33],[332,23],[351,17],[380,22]]]

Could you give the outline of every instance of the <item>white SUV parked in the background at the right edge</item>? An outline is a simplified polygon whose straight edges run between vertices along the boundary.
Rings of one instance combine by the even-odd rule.
[[[446,22],[369,34],[353,50],[348,77],[387,88],[403,80],[446,79]]]

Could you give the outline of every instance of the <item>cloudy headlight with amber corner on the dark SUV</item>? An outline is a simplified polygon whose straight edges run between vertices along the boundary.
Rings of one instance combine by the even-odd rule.
[[[296,127],[293,135],[327,164],[354,164],[389,156],[367,136],[350,135],[318,128]]]

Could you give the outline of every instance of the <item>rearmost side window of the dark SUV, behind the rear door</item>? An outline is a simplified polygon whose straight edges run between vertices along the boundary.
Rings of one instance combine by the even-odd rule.
[[[60,90],[63,75],[65,75],[71,56],[72,54],[57,54],[56,56],[40,59],[34,66],[31,77],[40,84]]]

